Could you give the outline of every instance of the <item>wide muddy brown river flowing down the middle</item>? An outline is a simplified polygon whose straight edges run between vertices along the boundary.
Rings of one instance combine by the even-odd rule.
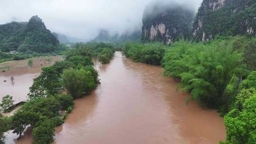
[[[163,77],[163,68],[116,52],[110,64],[97,69],[101,84],[75,100],[65,123],[55,128],[54,144],[218,144],[225,139],[223,118],[195,102],[186,106],[189,94],[177,91],[178,83]],[[7,137],[7,144],[32,141],[31,129],[19,141],[17,135]]]

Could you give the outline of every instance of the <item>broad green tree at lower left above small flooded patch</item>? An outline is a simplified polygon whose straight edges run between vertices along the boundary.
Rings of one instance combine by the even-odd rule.
[[[28,125],[37,127],[45,119],[55,120],[60,109],[61,103],[54,97],[31,99],[11,117],[11,129],[20,138]],[[52,123],[57,125],[56,121]]]

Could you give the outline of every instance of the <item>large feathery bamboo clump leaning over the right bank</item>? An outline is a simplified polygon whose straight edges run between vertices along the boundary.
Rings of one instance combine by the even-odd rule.
[[[217,108],[224,113],[234,101],[241,77],[247,75],[242,54],[225,42],[206,45],[174,43],[165,54],[165,74],[181,80],[180,86],[191,92],[200,105]]]

